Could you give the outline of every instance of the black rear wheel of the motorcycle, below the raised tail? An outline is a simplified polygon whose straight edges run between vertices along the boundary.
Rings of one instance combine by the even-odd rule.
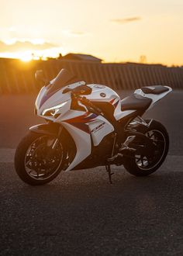
[[[146,120],[147,123],[150,120]],[[153,120],[149,128],[139,126],[137,132],[145,134],[157,143],[157,153],[152,152],[152,156],[130,153],[129,156],[123,157],[123,165],[131,175],[147,176],[161,167],[167,156],[169,149],[169,137],[166,128],[159,122]],[[133,146],[132,146],[133,147]]]

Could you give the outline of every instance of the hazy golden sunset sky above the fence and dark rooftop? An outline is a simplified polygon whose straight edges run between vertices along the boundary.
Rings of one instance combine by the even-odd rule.
[[[182,0],[0,0],[0,57],[183,65]],[[141,57],[142,59],[142,57]]]

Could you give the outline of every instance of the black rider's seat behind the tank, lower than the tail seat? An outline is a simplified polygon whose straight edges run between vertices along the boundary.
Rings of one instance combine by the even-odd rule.
[[[121,101],[121,109],[124,110],[145,110],[148,109],[152,99],[145,98],[141,95],[133,94]]]

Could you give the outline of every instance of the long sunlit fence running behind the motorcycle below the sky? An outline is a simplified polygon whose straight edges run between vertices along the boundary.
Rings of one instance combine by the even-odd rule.
[[[34,74],[43,69],[47,78],[54,78],[67,68],[87,83],[108,85],[114,89],[134,89],[145,85],[169,85],[183,88],[183,68],[150,64],[100,64],[83,61],[31,61],[0,59],[0,94],[37,92]]]

